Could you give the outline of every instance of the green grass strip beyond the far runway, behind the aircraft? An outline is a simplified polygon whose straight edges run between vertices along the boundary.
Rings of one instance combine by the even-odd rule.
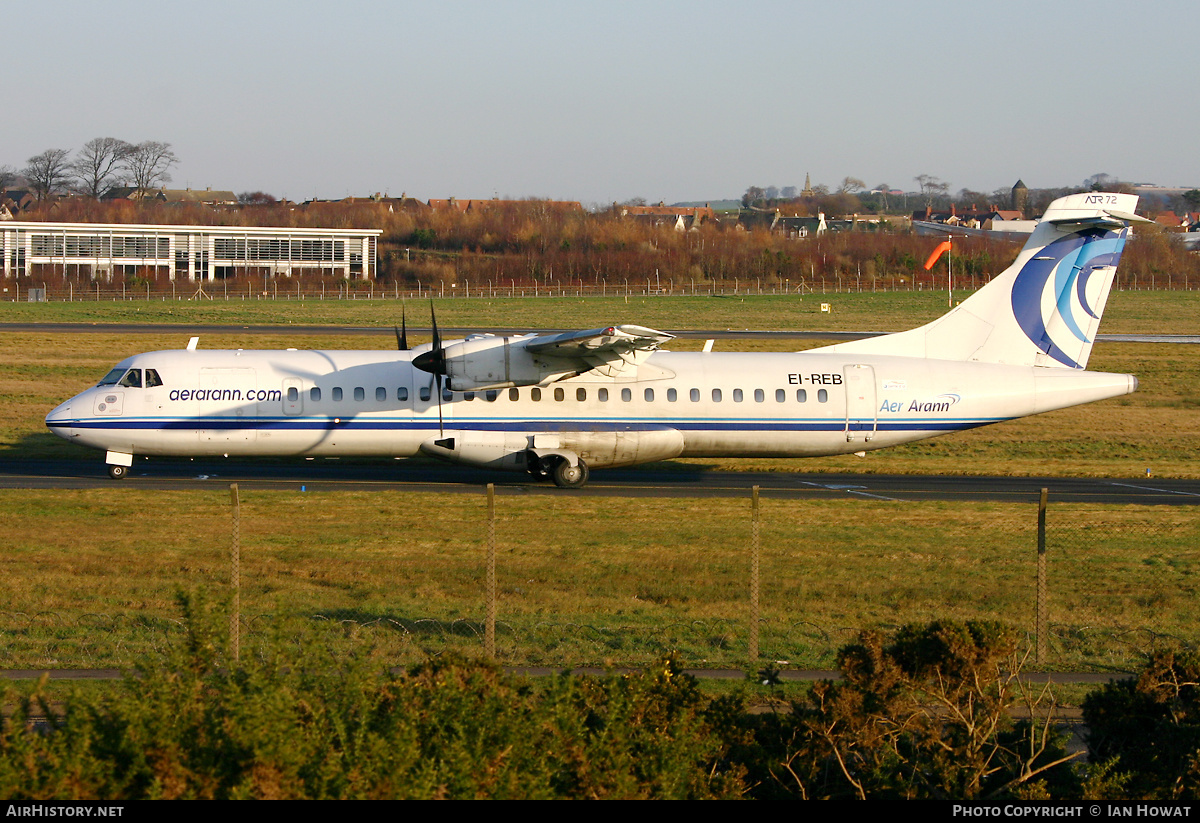
[[[955,292],[955,301],[968,292]],[[832,311],[821,311],[821,304]],[[947,311],[946,292],[805,295],[608,298],[472,298],[434,300],[445,326],[588,329],[636,323],[656,329],[899,331]],[[1100,330],[1106,334],[1200,334],[1200,292],[1114,292]],[[407,302],[409,322],[428,325],[428,304]],[[377,325],[400,323],[400,301],[178,300],[0,304],[8,323],[179,323]]]

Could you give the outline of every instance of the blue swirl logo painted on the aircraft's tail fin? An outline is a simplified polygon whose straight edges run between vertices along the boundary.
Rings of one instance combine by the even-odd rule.
[[[1087,282],[1097,269],[1117,264],[1126,235],[1123,229],[1087,229],[1060,238],[1026,263],[1013,282],[1013,317],[1021,331],[1034,346],[1064,366],[1082,368],[1051,338],[1048,329],[1050,320],[1057,314],[1078,341],[1092,342],[1080,328],[1087,325],[1084,316],[1099,319],[1096,307],[1087,302]],[[1046,289],[1054,289],[1049,314],[1043,313]]]

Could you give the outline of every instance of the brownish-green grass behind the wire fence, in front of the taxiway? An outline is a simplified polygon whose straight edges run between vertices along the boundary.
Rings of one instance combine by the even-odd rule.
[[[479,497],[242,491],[244,647],[316,625],[396,663],[478,653]],[[175,593],[228,599],[230,512],[211,492],[0,492],[0,668],[130,666],[181,637]],[[830,667],[866,626],[934,618],[1032,629],[1034,506],[764,500],[764,660]],[[1120,669],[1195,642],[1200,518],[1052,506],[1051,666]],[[864,525],[870,524],[870,525]],[[504,497],[504,662],[745,665],[745,500]]]

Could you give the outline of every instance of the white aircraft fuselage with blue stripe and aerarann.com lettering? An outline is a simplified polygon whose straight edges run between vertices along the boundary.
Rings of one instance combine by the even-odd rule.
[[[115,453],[386,456],[490,465],[529,446],[593,468],[881,449],[1133,391],[1127,374],[821,353],[654,353],[637,379],[444,391],[412,352],[151,352],[47,416]],[[137,370],[134,372],[134,370]],[[130,372],[138,379],[128,379]],[[150,378],[154,374],[154,379]],[[150,385],[161,383],[161,385]],[[461,453],[431,443],[456,437]],[[500,465],[497,468],[520,468]]]

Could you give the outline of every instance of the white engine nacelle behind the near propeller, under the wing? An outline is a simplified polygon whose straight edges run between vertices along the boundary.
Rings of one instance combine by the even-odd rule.
[[[475,337],[445,347],[445,374],[454,391],[534,386],[577,371],[532,354],[535,337]],[[564,371],[564,367],[566,371]]]

